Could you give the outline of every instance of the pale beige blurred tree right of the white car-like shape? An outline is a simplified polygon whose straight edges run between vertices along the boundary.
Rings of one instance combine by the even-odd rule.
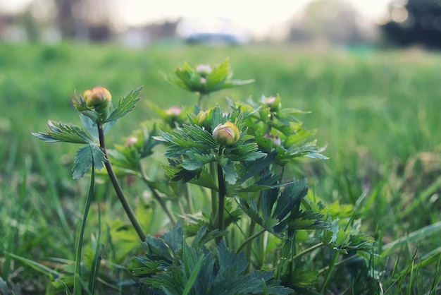
[[[293,42],[324,40],[331,44],[354,44],[362,41],[352,6],[340,0],[312,1],[304,10],[302,20],[292,26],[289,39]]]

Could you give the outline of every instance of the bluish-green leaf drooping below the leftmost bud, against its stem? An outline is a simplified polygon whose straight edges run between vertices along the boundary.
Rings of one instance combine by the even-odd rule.
[[[73,161],[73,179],[80,179],[85,175],[86,171],[92,167],[101,170],[104,168],[104,163],[107,161],[104,152],[96,143],[89,143],[85,147],[77,150],[75,159]]]

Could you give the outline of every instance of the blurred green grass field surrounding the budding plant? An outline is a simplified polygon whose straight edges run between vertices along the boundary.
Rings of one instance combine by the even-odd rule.
[[[79,124],[75,91],[103,85],[117,98],[144,85],[137,108],[109,135],[109,143],[122,143],[128,130],[157,116],[147,102],[162,108],[196,104],[196,97],[167,83],[163,73],[185,61],[218,64],[226,57],[235,78],[255,82],[215,92],[206,103],[226,108],[225,97],[246,101],[279,94],[283,106],[311,112],[299,118],[317,129],[314,137],[327,145],[330,159],[299,162],[292,173],[307,176],[328,205],[361,202],[356,218],[363,230],[375,238],[379,253],[393,248],[375,270],[386,294],[441,292],[440,54],[290,45],[156,44],[135,50],[73,43],[0,46],[0,291],[8,282],[15,294],[50,293],[50,272],[44,275],[33,262],[61,271],[60,265],[75,259],[89,179],[72,179],[75,146],[48,145],[30,133],[45,131],[48,119]],[[154,173],[157,165],[151,167]],[[108,186],[97,189],[106,195]],[[142,194],[136,185],[128,191]],[[104,223],[125,222],[115,200],[100,205]],[[161,229],[163,224],[149,223],[149,234]],[[90,233],[85,239],[94,243]]]

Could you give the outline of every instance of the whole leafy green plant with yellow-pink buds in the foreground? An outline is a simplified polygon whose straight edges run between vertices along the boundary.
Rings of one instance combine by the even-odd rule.
[[[299,165],[297,159],[326,159],[321,154],[324,148],[309,140],[313,132],[297,119],[303,112],[283,108],[280,95],[263,96],[259,102],[230,100],[230,112],[219,106],[201,108],[209,93],[251,82],[231,78],[228,59],[213,67],[178,67],[168,80],[198,95],[187,119],[182,109],[163,111],[152,105],[163,120],[142,122],[124,145],[113,149],[106,148],[106,133],[132,111],[142,88],[122,97],[116,108],[105,88],[87,90],[73,100],[86,131],[49,121],[46,133],[33,133],[49,143],[85,145],[75,156],[74,179],[92,168],[77,240],[75,294],[80,294],[86,280],[93,293],[99,276],[100,239],[92,252],[89,278],[81,273],[81,249],[95,169],[104,167],[147,252],[131,265],[142,294],[325,292],[336,265],[357,260],[358,275],[368,267],[373,239],[361,231],[356,210],[338,218],[340,212],[330,212],[309,191],[306,179],[297,180],[286,172]],[[161,166],[165,175],[151,179],[144,159],[161,143],[166,149],[167,164]],[[146,236],[118,176],[139,178],[175,224],[173,229],[161,238]],[[340,254],[349,253],[349,258],[340,260]],[[322,261],[321,268],[306,267],[307,262],[317,266],[317,261]]]

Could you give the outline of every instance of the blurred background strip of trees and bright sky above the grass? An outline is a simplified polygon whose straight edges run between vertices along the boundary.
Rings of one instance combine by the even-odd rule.
[[[145,47],[154,42],[441,46],[438,0],[0,0],[0,38]]]

